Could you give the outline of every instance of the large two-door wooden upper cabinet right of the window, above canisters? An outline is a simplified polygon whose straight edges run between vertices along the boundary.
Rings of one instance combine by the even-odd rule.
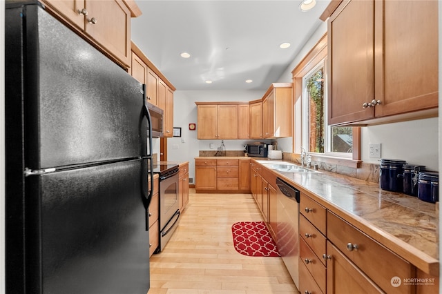
[[[329,124],[437,115],[437,1],[343,1],[328,21]]]

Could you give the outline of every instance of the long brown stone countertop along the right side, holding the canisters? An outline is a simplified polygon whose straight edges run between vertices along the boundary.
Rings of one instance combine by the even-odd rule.
[[[439,218],[435,204],[323,170],[272,172],[425,273],[439,276]]]

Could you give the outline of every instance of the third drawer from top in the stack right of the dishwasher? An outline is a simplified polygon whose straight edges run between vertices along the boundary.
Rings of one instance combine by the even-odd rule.
[[[323,258],[316,256],[302,238],[300,238],[299,243],[299,258],[314,277],[316,284],[318,284],[319,288],[325,293],[326,268],[322,263]]]

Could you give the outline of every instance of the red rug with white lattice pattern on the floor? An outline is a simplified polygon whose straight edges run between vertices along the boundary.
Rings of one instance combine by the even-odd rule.
[[[280,256],[264,222],[237,222],[232,226],[233,246],[247,256]]]

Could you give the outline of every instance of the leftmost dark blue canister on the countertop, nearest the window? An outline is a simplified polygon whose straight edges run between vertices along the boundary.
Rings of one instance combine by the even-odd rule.
[[[407,164],[401,159],[381,159],[379,186],[383,190],[402,192],[403,165]]]

